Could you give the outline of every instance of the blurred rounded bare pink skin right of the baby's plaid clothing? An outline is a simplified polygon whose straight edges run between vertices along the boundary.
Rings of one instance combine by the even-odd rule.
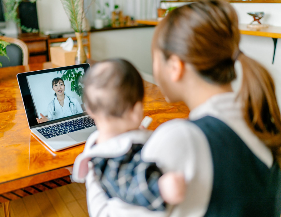
[[[185,178],[182,173],[168,172],[162,175],[158,181],[162,198],[168,204],[175,205],[185,199]]]

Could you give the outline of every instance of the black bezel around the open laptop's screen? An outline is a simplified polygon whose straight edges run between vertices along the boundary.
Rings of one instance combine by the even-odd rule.
[[[73,119],[73,118],[78,118],[78,117],[86,115],[86,112],[83,112],[83,113],[71,115],[71,116],[68,116],[65,118],[47,121],[42,124],[38,124],[36,121],[37,112],[36,112],[35,105],[32,100],[32,95],[31,95],[26,77],[30,76],[30,75],[57,72],[57,71],[63,71],[63,70],[68,70],[68,69],[73,69],[73,68],[83,68],[84,73],[86,73],[86,71],[90,68],[90,64],[83,63],[83,64],[78,64],[78,65],[64,66],[64,67],[58,67],[58,68],[49,68],[49,69],[43,69],[43,70],[38,70],[38,71],[24,72],[24,73],[17,74],[17,82],[18,82],[20,92],[22,95],[23,106],[24,106],[26,117],[27,117],[29,129],[36,128],[36,127],[42,127],[42,126],[46,126],[49,124],[55,124],[57,122],[61,122],[61,121]]]

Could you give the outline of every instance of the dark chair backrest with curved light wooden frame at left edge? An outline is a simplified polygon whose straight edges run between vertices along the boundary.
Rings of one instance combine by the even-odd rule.
[[[7,56],[10,60],[4,56],[0,56],[2,67],[28,65],[29,53],[26,43],[17,38],[5,36],[0,36],[0,40],[11,43],[6,47]]]

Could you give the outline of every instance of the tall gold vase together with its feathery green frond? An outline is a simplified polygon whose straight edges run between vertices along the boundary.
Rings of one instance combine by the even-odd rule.
[[[77,39],[77,52],[75,57],[75,63],[86,63],[87,57],[83,47],[82,38],[82,23],[85,19],[85,14],[90,8],[94,0],[91,1],[90,5],[84,11],[84,0],[61,0],[64,11],[71,23],[71,28],[75,31]]]

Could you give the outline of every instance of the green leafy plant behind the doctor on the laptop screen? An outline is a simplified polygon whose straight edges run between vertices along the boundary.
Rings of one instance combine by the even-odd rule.
[[[78,71],[79,68],[75,69],[68,69],[63,71],[58,71],[57,73],[62,74],[62,80],[64,81],[71,81],[71,91],[73,93],[77,93],[78,96],[83,96],[83,87],[81,85],[81,79],[84,73],[82,71]]]

